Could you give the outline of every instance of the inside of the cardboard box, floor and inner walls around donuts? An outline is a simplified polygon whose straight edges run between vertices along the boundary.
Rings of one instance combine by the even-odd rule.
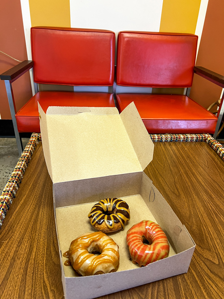
[[[100,178],[85,180],[85,184],[83,184],[83,187],[76,190],[77,192],[74,188],[74,192],[72,192],[73,200],[70,199],[70,204],[68,206],[63,206],[62,204],[62,198],[65,194],[63,195],[62,193],[59,194],[58,192],[55,192],[58,188],[54,188],[54,201],[56,207],[55,216],[61,255],[69,249],[70,243],[74,239],[82,234],[95,231],[90,224],[88,214],[96,202],[107,197],[101,197],[102,191],[106,185],[108,187],[106,187],[105,194],[108,191],[108,194],[111,195],[110,190],[116,190],[117,194],[125,194],[125,190],[123,188],[128,187],[127,177],[123,176],[123,184],[120,177],[121,190],[119,190],[116,185],[116,178],[118,177],[120,176],[115,176],[113,180],[111,177],[103,177],[101,178],[103,182],[102,185],[95,184],[95,181]],[[104,181],[107,181],[107,184]],[[133,183],[134,181],[135,184]],[[139,268],[130,261],[130,255],[126,246],[126,232],[132,225],[140,222],[141,220],[151,220],[162,227],[170,243],[169,257],[194,246],[194,243],[189,237],[184,226],[181,224],[177,216],[152,184],[147,175],[143,172],[138,174],[129,174],[129,184],[132,186],[131,190],[129,188],[126,189],[126,192],[129,193],[129,195],[117,197],[121,197],[129,205],[130,221],[127,222],[123,230],[109,234],[119,246],[120,265],[117,271]],[[90,194],[92,194],[92,196],[86,198],[86,194],[88,193],[86,190],[91,189],[91,186],[92,192],[90,192]],[[130,193],[132,193],[132,195],[130,195]],[[97,199],[97,201],[93,201],[92,199]],[[58,202],[60,204],[58,204]],[[71,266],[64,266],[64,262],[67,259],[64,257],[61,258],[65,277],[79,277]]]

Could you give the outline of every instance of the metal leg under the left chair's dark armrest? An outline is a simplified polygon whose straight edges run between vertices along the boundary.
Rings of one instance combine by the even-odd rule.
[[[15,119],[15,102],[14,102],[12,86],[11,86],[11,83],[9,80],[5,80],[4,83],[5,83],[5,88],[6,88],[6,92],[7,92],[8,104],[9,104],[9,108],[10,108],[11,119],[12,119],[12,124],[13,124],[13,128],[14,128],[14,133],[15,133],[15,140],[16,140],[16,144],[17,144],[17,148],[18,148],[18,153],[20,156],[23,151],[23,146],[22,146],[22,140],[18,133],[17,123],[16,123],[16,119]]]

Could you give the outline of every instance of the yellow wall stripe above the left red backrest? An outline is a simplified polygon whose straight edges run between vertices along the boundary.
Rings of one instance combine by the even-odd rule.
[[[70,0],[29,0],[32,26],[71,27]]]

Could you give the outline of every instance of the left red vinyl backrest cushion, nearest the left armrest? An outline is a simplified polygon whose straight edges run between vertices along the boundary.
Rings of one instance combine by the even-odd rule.
[[[34,82],[112,86],[115,33],[109,30],[32,27]]]

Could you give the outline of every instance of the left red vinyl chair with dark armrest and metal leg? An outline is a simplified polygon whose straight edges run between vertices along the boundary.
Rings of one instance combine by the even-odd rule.
[[[113,86],[115,33],[110,30],[63,27],[31,28],[32,61],[23,61],[0,75],[7,96],[19,154],[19,133],[40,133],[37,102],[49,106],[115,107],[111,92],[38,91],[38,84]],[[33,68],[35,95],[16,112],[11,83]],[[108,89],[109,90],[109,89]]]

